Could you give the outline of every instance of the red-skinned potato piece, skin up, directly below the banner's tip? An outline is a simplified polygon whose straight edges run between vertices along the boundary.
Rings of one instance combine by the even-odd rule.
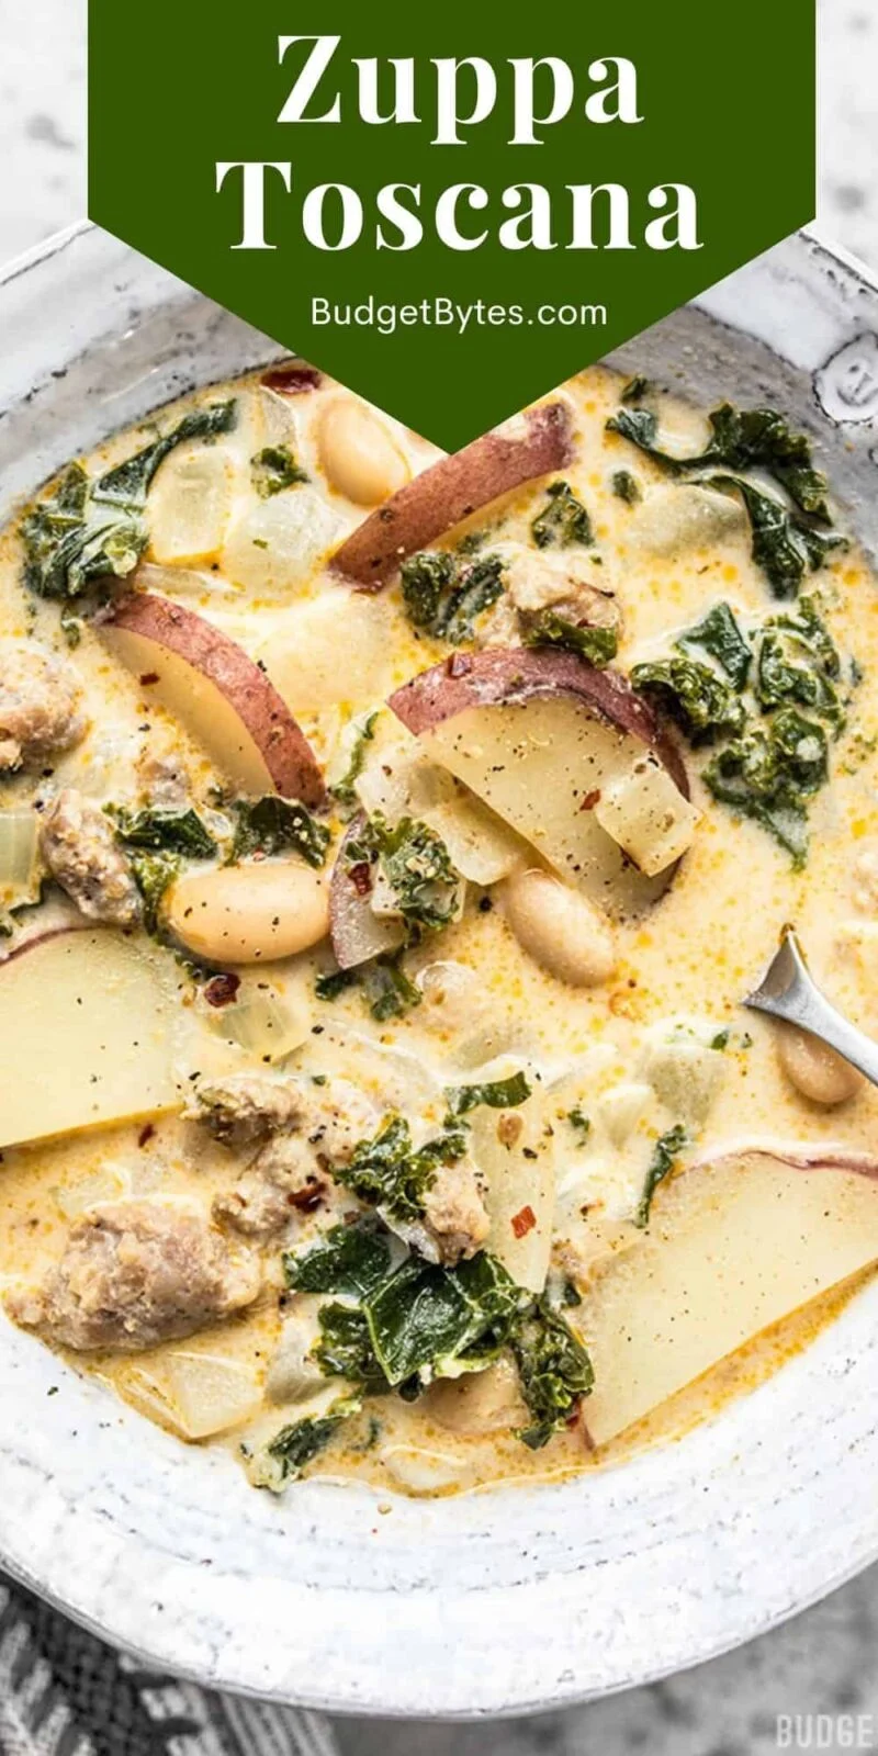
[[[543,402],[525,414],[525,432],[490,432],[407,481],[342,543],[332,569],[376,590],[407,555],[435,543],[464,518],[525,481],[564,469],[572,458],[567,402]]]

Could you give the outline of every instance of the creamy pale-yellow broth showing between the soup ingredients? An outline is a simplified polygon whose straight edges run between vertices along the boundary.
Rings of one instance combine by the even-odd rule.
[[[734,386],[729,388],[734,393]],[[752,560],[750,527],[738,497],[673,485],[660,465],[606,432],[620,390],[622,381],[601,369],[564,386],[572,406],[574,458],[553,474],[587,506],[594,529],[594,544],[565,550],[564,562],[616,595],[623,623],[615,664],[629,673],[644,658],[664,657],[674,636],[716,601],[729,602],[743,623],[762,622],[785,606],[774,602],[764,572]],[[155,478],[146,509],[153,546],[133,583],[195,609],[263,666],[330,781],[344,774],[363,715],[383,709],[365,746],[367,795],[369,778],[378,776],[383,785],[383,766],[393,769],[400,746],[413,746],[393,713],[385,709],[386,697],[428,666],[444,662],[451,648],[413,627],[399,583],[376,594],[351,592],[327,565],[367,511],[342,495],[323,467],[327,407],[348,400],[346,393],[323,381],[306,395],[281,397],[253,376],[163,409],[162,432],[190,407],[225,397],[239,400],[235,430],[216,446],[191,444],[172,453]],[[702,448],[708,428],[701,414],[664,397],[651,406],[660,409],[662,432],[674,435],[680,455]],[[90,476],[125,460],[153,435],[153,427],[118,435],[86,460]],[[385,416],[372,443],[386,462],[388,479],[397,472],[395,486],[399,474],[414,476],[437,457]],[[309,481],[260,499],[249,460],[267,446],[291,448]],[[172,515],[179,518],[174,507],[181,504],[181,478],[174,481],[169,472],[186,469],[193,481],[186,506],[195,497],[197,513],[190,506],[190,530],[214,546],[181,553],[170,564],[162,557],[174,551],[174,543],[179,550],[183,539],[179,530],[174,537],[170,525]],[[641,488],[637,504],[613,492],[613,476],[622,469]],[[234,481],[232,493],[228,481]],[[346,486],[351,486],[348,478]],[[453,532],[450,544],[467,530],[488,527],[485,550],[513,557],[513,562],[518,557],[520,564],[523,553],[534,553],[530,527],[544,507],[544,490],[546,478],[476,513],[469,525]],[[307,541],[293,562],[288,548],[291,509],[306,495]],[[680,537],[681,502],[674,502],[674,495],[683,495],[701,520],[697,543]],[[432,546],[443,546],[443,539]],[[534,1127],[534,1189],[546,1189],[541,1154],[551,1155],[557,1180],[548,1220],[553,1285],[569,1280],[585,1299],[585,1317],[576,1306],[564,1312],[574,1331],[588,1317],[590,1299],[601,1298],[601,1280],[613,1273],[613,1263],[637,1250],[643,1231],[632,1224],[632,1215],[650,1154],[681,1120],[683,1101],[667,1099],[667,1082],[662,1101],[655,1073],[674,1020],[688,1031],[694,1068],[701,1069],[699,1076],[708,1068],[704,1076],[711,1087],[702,1113],[683,1119],[690,1143],[680,1155],[680,1175],[697,1177],[697,1168],[690,1166],[711,1162],[750,1141],[831,1145],[860,1154],[871,1148],[878,1113],[873,1089],[860,1083],[853,1096],[832,1106],[804,1099],[781,1066],[774,1027],[741,1010],[741,997],[759,980],[785,922],[794,920],[815,975],[836,1004],[864,1029],[876,1027],[878,896],[873,906],[867,864],[860,857],[878,834],[878,599],[855,550],[841,551],[806,581],[804,590],[820,592],[843,664],[855,658],[862,681],[852,692],[846,730],[832,746],[831,783],[810,801],[810,853],[802,871],[794,871],[788,853],[766,829],[709,797],[699,780],[704,757],[690,753],[683,743],[692,797],[702,815],[660,901],[615,927],[616,966],[609,980],[569,987],[544,973],[509,925],[502,887],[492,885],[471,885],[462,918],[406,952],[407,978],[423,999],[404,1017],[372,1020],[358,987],[334,999],[316,999],[314,976],[334,968],[323,941],[281,964],[239,971],[244,994],[263,982],[288,1008],[288,1017],[300,1022],[299,1041],[276,1064],[277,1071],[346,1078],[379,1110],[402,1110],[421,1133],[443,1126],[446,1087],[527,1071],[532,1098],[530,1112],[522,1106],[522,1119],[525,1127]],[[500,602],[476,622],[476,646],[509,641],[511,623],[504,623],[504,613]],[[155,757],[172,757],[183,766],[191,802],[207,818],[223,792],[228,794],[221,762],[156,702],[144,676],[132,676],[109,655],[97,625],[83,622],[79,644],[67,655],[58,604],[40,602],[21,587],[21,543],[14,527],[0,548],[0,636],[37,639],[68,657],[83,683],[88,716],[86,736],[68,752],[0,781],[0,806],[28,804],[40,788],[51,797],[61,787],[74,787],[100,804],[132,801],[139,764]],[[518,637],[513,629],[511,643]],[[51,773],[40,774],[40,769]],[[330,815],[330,822],[332,866],[346,825],[337,815]],[[492,906],[479,908],[483,899]],[[221,1036],[221,1011],[211,1013],[170,948],[165,955],[179,1010],[174,1068],[181,1087],[198,1075],[221,1078],[246,1071],[253,1062],[246,1050],[230,1047]],[[725,1047],[711,1048],[723,1033],[729,1033]],[[553,1098],[555,1082],[560,1083]],[[574,1108],[588,1117],[587,1138],[578,1138],[567,1122]],[[474,1112],[476,1162],[479,1141],[488,1150],[485,1131],[495,1122],[495,1112]],[[174,1113],[144,1113],[121,1126],[7,1147],[0,1180],[5,1285],[39,1282],[61,1257],[77,1215],[95,1203],[186,1198],[209,1212],[211,1199],[235,1184],[249,1157],[249,1147],[230,1150],[212,1141],[198,1122]],[[497,1184],[493,1199],[499,1199]],[[655,1215],[660,1215],[660,1203],[658,1189]],[[525,1206],[523,1199],[522,1210]],[[504,1224],[507,1219],[504,1213]],[[337,1394],[337,1382],[327,1380],[304,1403],[265,1396],[281,1326],[302,1298],[283,1291],[281,1250],[300,1254],[325,1229],[327,1215],[318,1206],[299,1215],[290,1236],[274,1236],[263,1245],[230,1238],[234,1252],[258,1256],[262,1291],[221,1322],[207,1322],[146,1350],[95,1349],[67,1357],[77,1368],[97,1371],[146,1415],[181,1436],[216,1436],[235,1452],[244,1447],[258,1454],[284,1422],[325,1415]],[[781,1247],[783,1227],[778,1233]],[[853,1263],[850,1275],[862,1266],[864,1261]],[[846,1285],[848,1273],[843,1280]],[[460,1417],[450,1412],[453,1391],[446,1384],[414,1403],[369,1396],[362,1412],[307,1463],[307,1472],[362,1475],[411,1493],[448,1493],[499,1477],[553,1475],[594,1466],[604,1457],[613,1461],[627,1447],[685,1428],[741,1384],[773,1370],[838,1308],[838,1291],[815,1285],[815,1292],[820,1298],[795,1319],[780,1321],[783,1313],[774,1313],[778,1321],[773,1319],[767,1338],[748,1342],[734,1370],[723,1364],[695,1389],[669,1396],[646,1422],[597,1452],[588,1449],[588,1398],[569,1431],[530,1450],[502,1426],[460,1431]],[[583,1340],[588,1343],[587,1329]],[[211,1396],[227,1414],[227,1419],[218,1417],[216,1435],[186,1433],[174,1400],[179,1373],[186,1377],[193,1357],[200,1356],[214,1363],[216,1380],[202,1398],[207,1403],[204,1421],[209,1426]],[[597,1393],[599,1387],[595,1398]],[[490,1424],[490,1415],[485,1419]]]

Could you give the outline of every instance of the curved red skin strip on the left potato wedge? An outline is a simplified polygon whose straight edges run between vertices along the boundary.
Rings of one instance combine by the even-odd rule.
[[[126,629],[165,646],[200,671],[228,702],[260,750],[270,780],[284,799],[307,806],[325,802],[318,759],[274,685],[258,664],[211,627],[204,616],[155,592],[132,592],[116,604],[105,627]]]

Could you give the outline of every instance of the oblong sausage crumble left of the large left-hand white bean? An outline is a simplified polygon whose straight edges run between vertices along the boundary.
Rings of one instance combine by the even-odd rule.
[[[132,869],[98,804],[67,787],[42,818],[40,850],[56,883],[90,920],[130,927],[140,913]]]

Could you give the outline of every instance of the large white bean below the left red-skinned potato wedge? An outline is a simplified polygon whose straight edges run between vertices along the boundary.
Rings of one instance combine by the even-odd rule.
[[[327,936],[328,887],[295,860],[214,866],[174,885],[165,920],[211,964],[269,964]]]

